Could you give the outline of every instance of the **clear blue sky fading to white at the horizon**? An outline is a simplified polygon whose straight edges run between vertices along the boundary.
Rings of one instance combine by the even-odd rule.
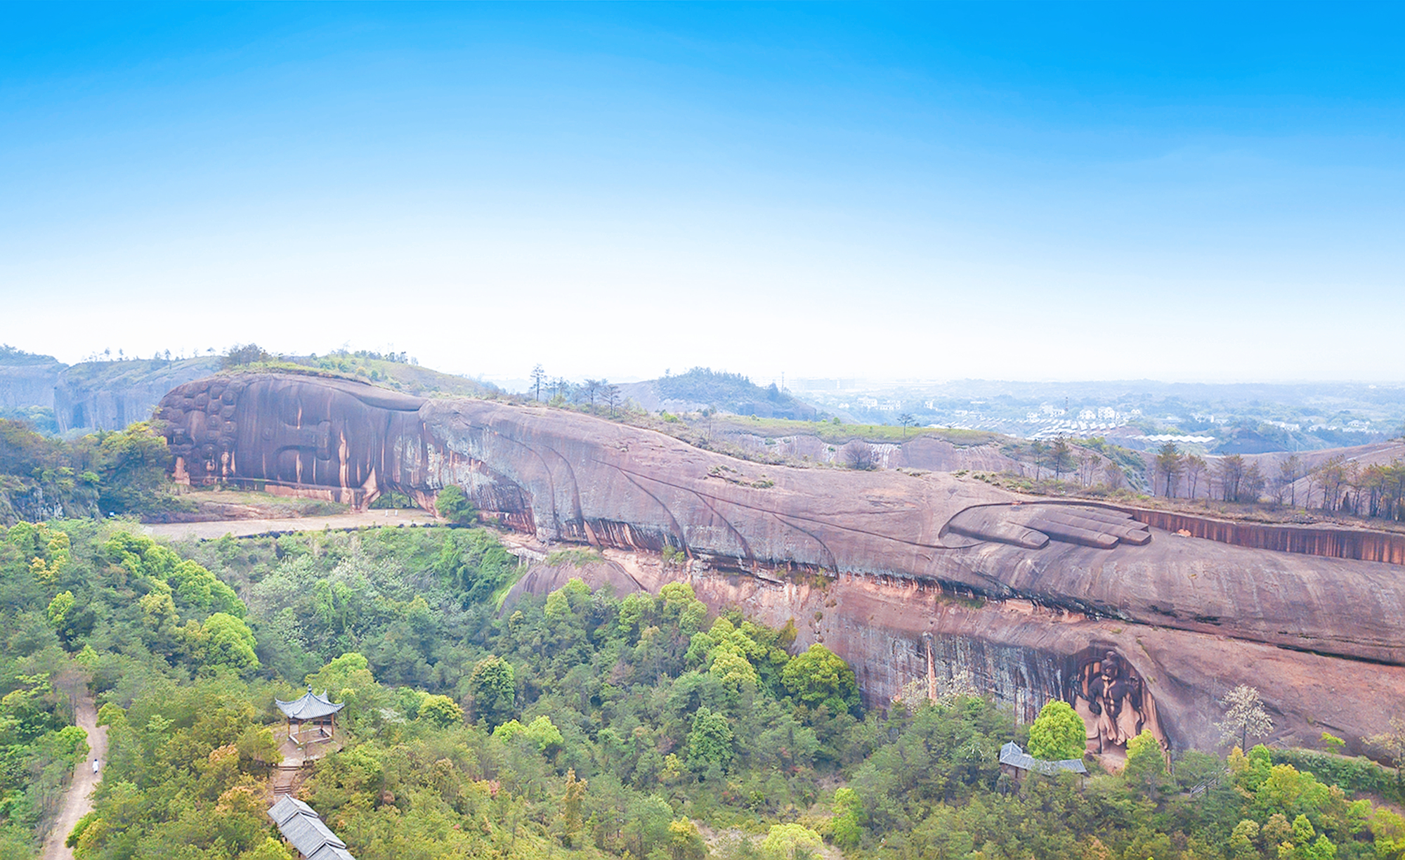
[[[4,4],[0,341],[1402,379],[1399,4]]]

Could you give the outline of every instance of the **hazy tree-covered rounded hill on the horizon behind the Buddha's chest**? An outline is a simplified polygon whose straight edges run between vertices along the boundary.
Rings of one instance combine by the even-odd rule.
[[[620,391],[649,412],[698,412],[715,409],[733,415],[754,415],[812,422],[815,406],[780,391],[773,382],[762,388],[742,374],[694,367],[686,374],[621,385]]]

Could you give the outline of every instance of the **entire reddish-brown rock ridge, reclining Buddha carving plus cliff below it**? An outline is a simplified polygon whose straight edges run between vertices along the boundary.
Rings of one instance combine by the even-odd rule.
[[[1134,512],[1020,499],[947,474],[760,467],[551,409],[420,400],[306,377],[163,400],[177,474],[365,502],[464,488],[544,545],[681,549],[739,604],[849,659],[870,703],[974,683],[1033,715],[1069,700],[1090,748],[1151,729],[1208,745],[1248,683],[1280,729],[1353,743],[1405,711],[1405,569],[1179,537]],[[1288,542],[1288,548],[1293,548]],[[1314,544],[1316,545],[1316,544]]]

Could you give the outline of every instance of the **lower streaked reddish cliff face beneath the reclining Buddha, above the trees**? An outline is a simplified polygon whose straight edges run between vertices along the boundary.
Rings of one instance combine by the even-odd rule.
[[[1315,741],[1331,731],[1360,752],[1363,736],[1385,731],[1390,714],[1405,708],[1402,666],[1090,618],[1023,600],[975,604],[919,582],[846,575],[821,589],[712,572],[693,582],[712,606],[742,606],[771,624],[794,618],[798,645],[823,642],[849,660],[868,704],[887,703],[913,680],[929,683],[929,673],[939,691],[941,682],[967,673],[1030,719],[1051,698],[1082,704],[1069,690],[1080,659],[1113,651],[1139,673],[1156,725],[1176,746],[1214,746],[1224,714],[1217,700],[1241,683],[1260,691],[1274,736],[1284,741]]]

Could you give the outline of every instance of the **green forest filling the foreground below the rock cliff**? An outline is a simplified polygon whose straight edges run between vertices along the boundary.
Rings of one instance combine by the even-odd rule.
[[[1364,759],[1168,770],[1151,742],[1123,774],[1014,786],[999,748],[1030,728],[989,701],[865,711],[794,627],[711,615],[681,583],[502,606],[520,573],[469,528],[0,530],[0,859],[38,856],[87,755],[86,690],[110,760],[80,860],[291,859],[264,814],[274,698],[309,686],[346,707],[299,797],[361,860],[1405,857],[1399,777]]]

